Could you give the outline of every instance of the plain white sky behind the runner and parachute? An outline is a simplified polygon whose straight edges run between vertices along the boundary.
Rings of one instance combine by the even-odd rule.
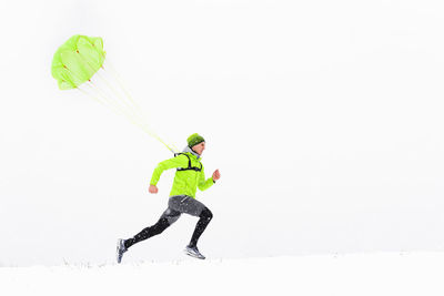
[[[250,257],[444,248],[441,1],[2,1],[0,265],[103,263],[154,223],[171,153],[50,73],[99,35],[182,147],[206,139],[200,248]],[[182,256],[181,217],[128,262]]]

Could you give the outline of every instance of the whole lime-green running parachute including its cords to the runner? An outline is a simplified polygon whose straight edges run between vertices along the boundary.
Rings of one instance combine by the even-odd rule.
[[[107,71],[105,71],[107,68]],[[141,108],[131,98],[115,69],[109,62],[100,37],[73,35],[54,53],[52,76],[60,90],[75,89],[91,96],[113,112],[123,115],[149,135],[176,153],[154,132]]]

